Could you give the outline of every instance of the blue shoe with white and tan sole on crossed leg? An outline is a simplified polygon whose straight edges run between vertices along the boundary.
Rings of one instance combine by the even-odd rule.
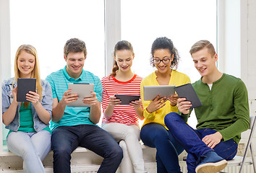
[[[201,161],[197,165],[195,172],[197,173],[216,173],[226,167],[228,161],[218,156],[214,151],[208,151],[200,157]]]

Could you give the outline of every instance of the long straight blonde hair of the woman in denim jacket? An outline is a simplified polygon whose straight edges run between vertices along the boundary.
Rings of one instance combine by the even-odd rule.
[[[31,78],[36,79],[37,93],[39,94],[39,98],[42,99],[43,87],[40,81],[38,53],[36,52],[35,48],[32,45],[20,45],[20,47],[16,52],[15,60],[14,60],[14,81],[12,83],[12,86],[14,85],[14,82],[17,81],[18,78],[20,78],[20,71],[18,68],[18,58],[20,56],[20,53],[22,53],[22,51],[25,51],[26,53],[30,53],[35,57],[35,66],[33,71],[31,72]],[[22,102],[22,105],[24,105],[25,107],[28,107],[29,103],[30,102]]]

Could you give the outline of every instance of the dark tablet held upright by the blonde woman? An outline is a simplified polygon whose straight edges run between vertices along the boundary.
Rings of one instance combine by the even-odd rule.
[[[35,78],[19,78],[17,79],[17,102],[29,102],[26,94],[30,91],[35,92]]]

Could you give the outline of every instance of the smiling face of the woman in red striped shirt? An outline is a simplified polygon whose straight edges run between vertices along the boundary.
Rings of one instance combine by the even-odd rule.
[[[119,67],[119,71],[127,72],[131,70],[132,61],[135,55],[132,55],[131,50],[117,50],[114,59]]]

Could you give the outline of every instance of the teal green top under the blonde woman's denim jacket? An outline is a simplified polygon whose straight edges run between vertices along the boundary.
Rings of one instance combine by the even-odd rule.
[[[35,132],[34,129],[34,121],[33,121],[33,115],[31,110],[31,103],[28,105],[28,107],[24,107],[23,105],[20,107],[20,127],[18,131],[22,132]],[[51,130],[49,126],[44,128],[43,130],[47,130],[51,133]],[[9,133],[11,133],[12,130],[9,130]],[[7,136],[9,135],[7,134]]]

